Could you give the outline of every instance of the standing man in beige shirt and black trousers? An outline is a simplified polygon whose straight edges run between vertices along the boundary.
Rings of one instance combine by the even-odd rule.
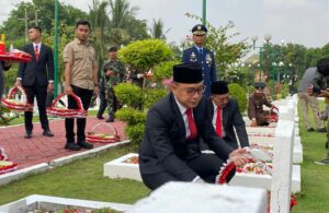
[[[88,37],[91,28],[88,21],[78,21],[76,23],[76,38],[66,45],[64,49],[65,62],[65,92],[66,94],[75,93],[78,95],[83,105],[83,109],[88,110],[93,92],[99,93],[98,85],[98,64],[95,51],[89,45]],[[68,108],[78,108],[72,96],[68,96]],[[65,119],[66,145],[65,149],[79,151],[83,149],[92,149],[91,143],[86,142],[86,118],[77,118],[77,143],[75,141],[75,119]]]

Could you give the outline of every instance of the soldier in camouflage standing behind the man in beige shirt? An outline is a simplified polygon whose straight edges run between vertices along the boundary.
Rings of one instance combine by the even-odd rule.
[[[118,108],[118,102],[114,94],[114,86],[124,81],[125,78],[125,68],[121,61],[117,60],[116,57],[117,48],[111,47],[109,49],[109,61],[104,66],[104,75],[103,81],[105,87],[105,99],[107,102],[107,110],[109,110],[109,119],[106,122],[114,121],[114,113]],[[99,111],[98,117],[101,117],[105,108]]]

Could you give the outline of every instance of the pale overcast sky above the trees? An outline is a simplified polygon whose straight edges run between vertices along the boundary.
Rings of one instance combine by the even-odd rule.
[[[14,4],[23,0],[2,0],[0,24],[9,16]],[[30,0],[25,0],[30,1]],[[92,0],[59,0],[88,12]],[[131,7],[138,7],[138,19],[148,21],[161,19],[168,42],[181,43],[198,22],[186,17],[186,12],[202,16],[202,0],[127,0]],[[322,47],[329,40],[328,0],[206,0],[206,19],[214,26],[235,24],[231,33],[240,33],[231,42],[259,37],[263,44],[266,34],[271,43],[302,44],[306,47]],[[39,17],[42,19],[42,17]]]

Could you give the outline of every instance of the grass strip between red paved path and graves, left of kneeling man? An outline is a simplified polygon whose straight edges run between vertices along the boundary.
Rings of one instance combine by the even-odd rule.
[[[103,177],[103,164],[136,152],[136,147],[123,145],[90,158],[1,186],[0,205],[31,194],[134,203],[146,197],[149,190],[139,181]]]

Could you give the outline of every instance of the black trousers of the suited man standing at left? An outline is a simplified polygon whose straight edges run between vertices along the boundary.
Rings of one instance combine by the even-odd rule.
[[[24,90],[27,96],[27,102],[30,104],[34,104],[34,97],[36,97],[38,116],[39,116],[42,128],[44,130],[48,130],[49,122],[46,113],[47,86],[39,86],[34,84],[33,86],[24,86]],[[33,119],[33,111],[25,111],[24,120],[25,120],[26,131],[33,130],[32,119]]]

